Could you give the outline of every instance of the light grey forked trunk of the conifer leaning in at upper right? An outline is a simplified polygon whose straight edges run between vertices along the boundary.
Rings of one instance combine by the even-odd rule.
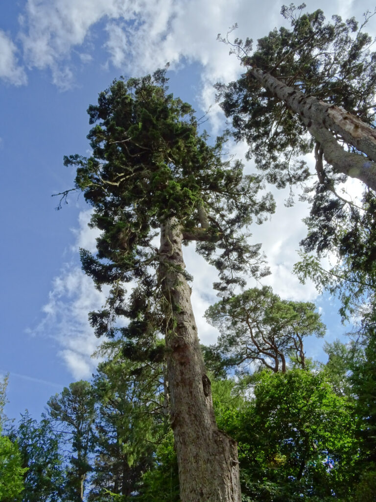
[[[305,96],[259,68],[250,68],[248,74],[302,117],[309,133],[320,144],[328,164],[337,172],[358,178],[376,190],[376,130],[344,109]],[[330,131],[368,158],[346,152]]]

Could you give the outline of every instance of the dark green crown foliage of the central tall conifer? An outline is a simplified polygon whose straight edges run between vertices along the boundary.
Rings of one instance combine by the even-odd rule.
[[[207,135],[199,135],[194,110],[167,93],[164,73],[113,82],[88,108],[90,123],[97,123],[88,135],[92,156],[65,158],[77,166],[76,187],[94,207],[91,225],[102,231],[96,257],[81,250],[83,269],[98,288],[112,288],[106,308],[90,314],[91,324],[98,336],[119,331],[135,359],[160,357],[153,340],[163,324],[153,239],[161,223],[177,218],[184,239],[197,240],[198,253],[218,268],[217,289],[227,292],[245,284],[245,273],[267,273],[247,227],[274,211],[270,195],[256,199],[260,178],[225,160],[224,139],[210,147]],[[130,281],[136,287],[126,299]],[[127,327],[115,327],[119,316],[130,319]]]

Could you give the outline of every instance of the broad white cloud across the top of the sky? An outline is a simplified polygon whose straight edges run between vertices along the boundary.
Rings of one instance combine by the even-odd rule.
[[[350,0],[332,0],[314,8],[320,7],[329,18],[338,12],[356,12],[359,17],[367,6],[362,5],[360,12]],[[284,22],[280,8],[278,0],[257,6],[248,0],[27,0],[19,38],[26,64],[50,68],[53,82],[62,89],[73,82],[72,52],[78,53],[82,64],[90,62],[92,42],[104,34],[109,62],[132,76],[163,67],[167,61],[172,68],[183,59],[200,63],[207,109],[213,103],[212,84],[234,79],[241,71],[236,57],[228,56],[229,48],[216,41],[218,32],[226,35],[237,22],[239,29],[232,38],[250,36],[256,41]]]

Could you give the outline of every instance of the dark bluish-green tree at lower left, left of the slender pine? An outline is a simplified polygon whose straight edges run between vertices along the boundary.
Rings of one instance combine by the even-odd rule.
[[[61,502],[65,493],[64,459],[59,451],[59,434],[46,418],[40,423],[28,411],[15,431],[22,465],[26,467],[23,502]]]

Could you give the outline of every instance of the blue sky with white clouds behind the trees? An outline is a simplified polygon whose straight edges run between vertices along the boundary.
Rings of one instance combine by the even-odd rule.
[[[361,18],[373,0],[307,2],[327,17]],[[0,4],[0,375],[10,373],[6,412],[11,418],[28,408],[38,417],[48,398],[70,382],[90,378],[90,358],[98,341],[87,312],[105,299],[83,276],[78,247],[93,248],[89,208],[73,195],[63,210],[51,194],[73,186],[74,172],[64,155],[88,150],[86,109],[119,77],[138,76],[171,63],[170,90],[193,103],[199,115],[210,108],[206,128],[221,133],[224,117],[214,102],[213,84],[230,81],[241,69],[219,32],[239,24],[237,36],[257,39],[279,26],[282,2],[239,0],[15,0]],[[360,5],[361,4],[361,5]],[[372,28],[372,27],[370,27]],[[373,26],[374,30],[374,26]],[[233,145],[243,157],[244,145]],[[247,165],[252,170],[251,165]],[[323,309],[329,339],[342,328],[337,306],[317,297],[312,285],[291,276],[296,249],[304,236],[306,207],[283,206],[255,227],[273,274],[266,280],[284,298],[315,300]],[[202,319],[216,300],[215,273],[187,250],[193,271],[193,304],[204,342],[216,333]],[[322,357],[321,342],[307,355]]]

